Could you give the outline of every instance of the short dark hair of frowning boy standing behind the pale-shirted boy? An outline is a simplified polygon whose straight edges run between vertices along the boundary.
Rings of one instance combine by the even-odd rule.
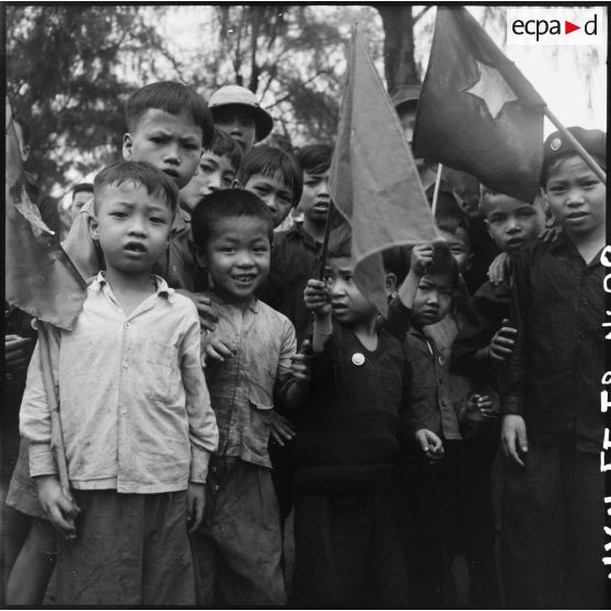
[[[142,115],[157,108],[171,115],[180,115],[183,111],[191,114],[195,125],[201,128],[201,143],[209,149],[212,142],[214,122],[208,104],[193,89],[172,81],[159,81],[135,91],[125,104],[127,129],[134,131]]]

